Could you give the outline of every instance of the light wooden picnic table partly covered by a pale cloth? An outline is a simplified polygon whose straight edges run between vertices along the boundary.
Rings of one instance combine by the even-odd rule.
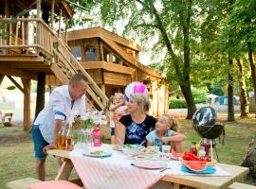
[[[111,148],[111,146],[109,145],[104,145],[104,146],[107,146],[109,149]],[[158,177],[160,178],[160,180],[171,182],[174,185],[174,188],[180,188],[180,186],[186,186],[186,188],[201,188],[201,189],[228,188],[228,186],[231,183],[237,180],[242,180],[248,173],[247,167],[230,165],[226,163],[217,163],[217,167],[224,170],[224,172],[228,172],[229,176],[214,177],[214,176],[205,176],[205,175],[197,176],[192,174],[179,175],[179,174],[175,174],[174,171],[172,172],[172,170],[164,171],[162,175],[159,175],[159,171],[154,172],[152,170],[144,170],[144,169],[139,169],[137,167],[132,167],[131,163],[133,161],[127,160],[127,158],[125,158],[125,155],[123,155],[122,152],[120,151],[113,150],[112,157],[102,159],[102,160],[83,156],[81,149],[74,150],[72,152],[60,150],[60,149],[49,149],[47,150],[47,153],[64,158],[64,163],[59,169],[59,172],[56,176],[56,180],[68,180],[72,169],[75,167],[76,172],[78,173],[85,187],[86,187],[86,184],[88,184],[87,182],[88,178],[90,179],[89,181],[93,181],[91,180],[90,176],[91,176],[91,173],[93,174],[94,171],[96,170],[98,172],[95,172],[94,174],[97,174],[97,175],[107,174],[106,176],[104,176],[104,178],[107,178],[109,182],[111,182],[111,180],[113,180],[113,182],[115,182],[114,180],[121,180],[120,177],[117,177],[117,175],[113,173],[114,171],[116,172],[117,170],[118,171],[120,170],[119,173],[117,174],[122,173],[121,175],[128,175],[128,177],[130,177],[131,175],[131,174],[129,175],[128,172],[132,173],[131,177],[134,178],[136,182],[139,182],[141,180],[141,178],[139,178],[140,174],[142,175],[148,174],[151,171],[153,175],[144,175],[145,177],[143,178],[148,178],[149,176],[152,176],[154,180],[154,179],[157,179]],[[74,160],[74,157],[78,158],[78,161]],[[117,167],[119,164],[121,164],[121,166],[119,167],[122,167],[122,164],[123,164],[123,169],[121,168],[113,169],[113,163],[116,163],[115,166]],[[177,161],[175,162],[170,161],[170,163],[177,164]],[[115,185],[115,183],[113,184]],[[88,188],[91,188],[91,187],[88,187]],[[115,188],[115,186],[113,188]]]

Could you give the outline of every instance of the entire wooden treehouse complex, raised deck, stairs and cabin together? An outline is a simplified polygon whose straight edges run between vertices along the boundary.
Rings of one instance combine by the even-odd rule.
[[[140,47],[100,27],[67,33],[73,14],[65,0],[0,0],[0,83],[7,76],[24,93],[24,128],[30,128],[31,79],[38,81],[42,109],[38,103],[44,102],[45,86],[67,83],[78,72],[90,83],[89,108],[103,110],[111,94],[139,80],[148,86],[150,113],[166,112],[167,86],[138,61]]]

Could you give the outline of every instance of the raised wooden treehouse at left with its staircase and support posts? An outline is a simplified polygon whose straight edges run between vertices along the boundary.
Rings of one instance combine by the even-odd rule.
[[[108,101],[66,43],[67,20],[73,14],[65,0],[0,0],[0,81],[7,76],[24,93],[25,129],[30,128],[31,79],[38,80],[37,96],[41,98],[37,97],[37,103],[44,101],[46,84],[67,83],[78,72],[89,80],[87,94],[98,107],[104,109]],[[54,28],[55,17],[59,18],[58,28]],[[21,77],[23,86],[13,77]],[[90,101],[86,104],[93,106]]]

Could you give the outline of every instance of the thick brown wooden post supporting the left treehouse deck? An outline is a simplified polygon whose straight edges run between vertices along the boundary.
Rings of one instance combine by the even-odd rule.
[[[28,130],[31,127],[30,120],[30,79],[22,78],[24,86],[24,108],[23,108],[23,125],[24,129]]]

